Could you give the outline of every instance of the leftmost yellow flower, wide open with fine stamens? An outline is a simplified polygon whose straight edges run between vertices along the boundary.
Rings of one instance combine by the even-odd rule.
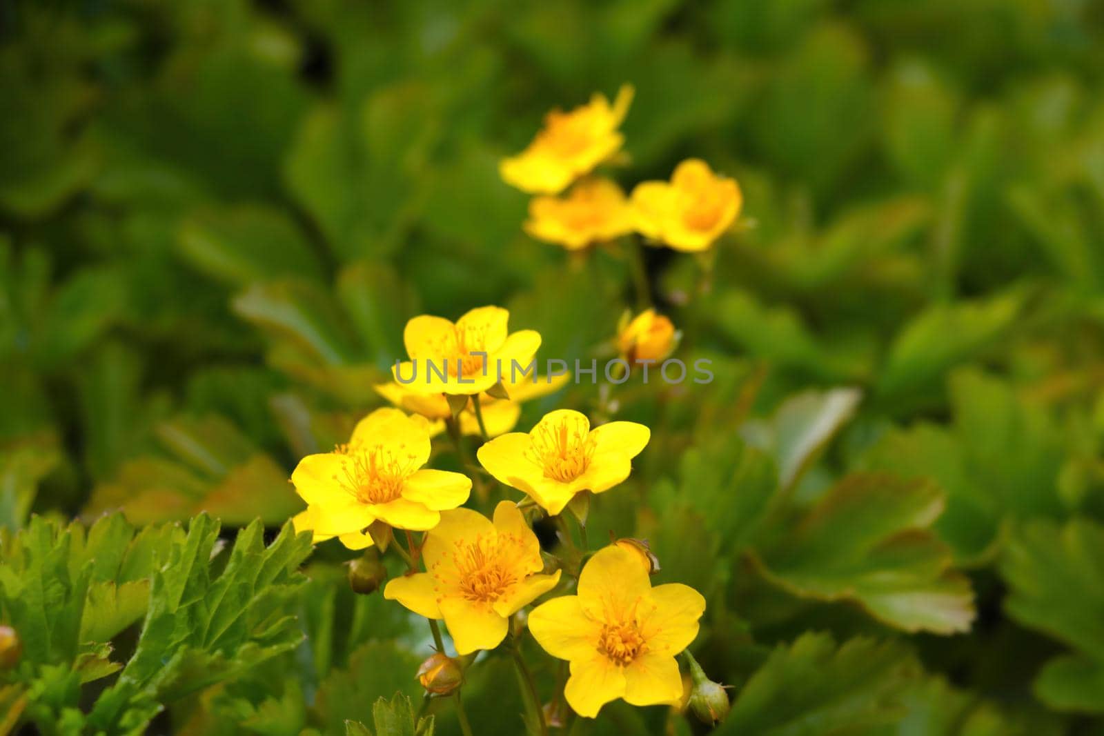
[[[468,500],[471,480],[458,472],[422,468],[429,459],[429,425],[399,409],[376,409],[357,424],[348,445],[308,455],[291,482],[307,502],[297,532],[315,542],[337,536],[351,550],[371,546],[364,530],[375,521],[427,530],[440,511]]]

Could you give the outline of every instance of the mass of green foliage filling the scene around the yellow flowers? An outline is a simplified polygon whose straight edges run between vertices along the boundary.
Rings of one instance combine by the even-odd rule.
[[[599,352],[619,250],[529,239],[497,162],[625,82],[625,186],[697,156],[744,190],[708,286],[646,254],[716,380],[520,427],[652,428],[592,537],[707,596],[718,733],[1104,734],[1092,0],[4,3],[0,733],[458,733],[392,700],[424,627],[250,522],[300,508],[410,317],[500,303],[543,358]],[[522,733],[508,658],[464,693]],[[703,729],[615,703],[572,733]]]

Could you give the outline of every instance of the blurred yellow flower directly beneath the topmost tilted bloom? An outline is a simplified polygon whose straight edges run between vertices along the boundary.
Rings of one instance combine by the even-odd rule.
[[[613,241],[633,232],[633,210],[608,179],[584,179],[565,198],[538,196],[529,203],[526,232],[569,250]]]

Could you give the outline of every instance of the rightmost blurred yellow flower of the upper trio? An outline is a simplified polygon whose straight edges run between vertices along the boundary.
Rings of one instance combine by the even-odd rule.
[[[676,250],[704,250],[740,214],[743,195],[734,179],[714,174],[709,164],[688,159],[671,182],[646,181],[633,190],[636,228]]]

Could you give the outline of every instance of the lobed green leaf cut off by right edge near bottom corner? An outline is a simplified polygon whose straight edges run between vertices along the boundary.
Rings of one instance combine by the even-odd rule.
[[[1075,650],[1052,659],[1036,693],[1064,711],[1104,712],[1104,526],[1032,521],[1008,542],[1000,572],[1008,615]]]

